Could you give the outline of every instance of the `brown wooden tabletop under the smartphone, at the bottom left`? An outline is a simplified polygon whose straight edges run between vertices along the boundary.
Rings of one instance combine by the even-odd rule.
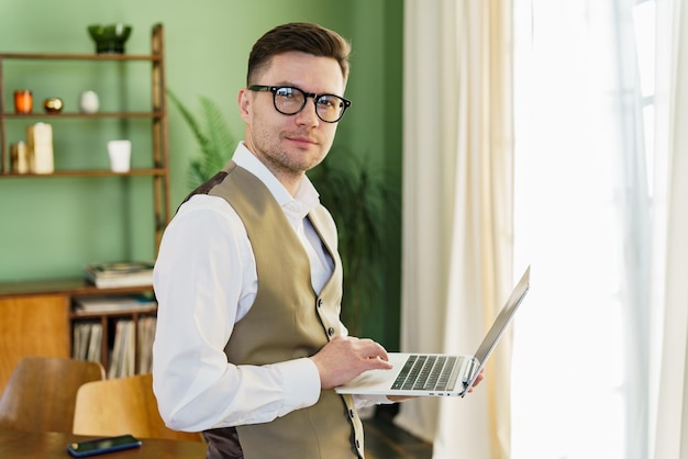
[[[68,459],[67,444],[96,437],[46,433],[0,430],[0,458]],[[93,456],[102,459],[204,459],[206,444],[200,441],[158,440],[142,438],[141,448]]]

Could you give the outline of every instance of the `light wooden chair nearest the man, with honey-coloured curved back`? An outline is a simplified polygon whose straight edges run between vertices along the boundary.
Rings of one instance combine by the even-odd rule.
[[[81,385],[77,392],[74,434],[132,434],[140,438],[203,441],[200,433],[176,432],[165,425],[157,411],[151,373]]]

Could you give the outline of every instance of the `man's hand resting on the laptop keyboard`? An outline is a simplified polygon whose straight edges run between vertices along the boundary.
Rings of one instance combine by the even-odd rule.
[[[389,370],[387,351],[373,339],[336,336],[311,357],[322,389],[342,385],[367,370]]]

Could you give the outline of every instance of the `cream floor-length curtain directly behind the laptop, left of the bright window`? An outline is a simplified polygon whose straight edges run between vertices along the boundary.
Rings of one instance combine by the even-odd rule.
[[[404,4],[401,346],[469,355],[513,282],[511,2]],[[406,402],[397,423],[435,458],[508,457],[509,342],[474,394]]]

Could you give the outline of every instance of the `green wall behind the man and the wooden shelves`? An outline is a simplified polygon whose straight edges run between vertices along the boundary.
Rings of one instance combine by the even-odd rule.
[[[167,87],[195,112],[198,97],[213,99],[242,138],[236,92],[245,82],[251,46],[279,23],[318,22],[348,37],[354,48],[346,92],[354,105],[340,125],[334,152],[369,156],[399,190],[402,5],[392,0],[2,0],[0,52],[90,53],[88,24],[124,22],[134,29],[126,53],[147,54],[151,27],[163,23]],[[4,68],[3,96],[11,102],[13,89],[27,87],[34,92],[34,112],[47,97],[60,97],[65,110],[74,111],[78,94],[93,89],[103,110],[146,110],[148,70],[145,63],[12,61]],[[186,171],[197,146],[174,107],[168,119],[174,211],[189,191]],[[51,120],[57,168],[107,167],[104,143],[118,136],[132,138],[134,167],[147,165],[149,122]],[[24,126],[9,121],[8,143],[23,138]],[[153,258],[149,191],[145,177],[1,179],[0,282],[78,277],[90,261]],[[364,334],[393,348],[399,333],[400,215],[390,210],[386,217],[384,306],[371,312]]]

